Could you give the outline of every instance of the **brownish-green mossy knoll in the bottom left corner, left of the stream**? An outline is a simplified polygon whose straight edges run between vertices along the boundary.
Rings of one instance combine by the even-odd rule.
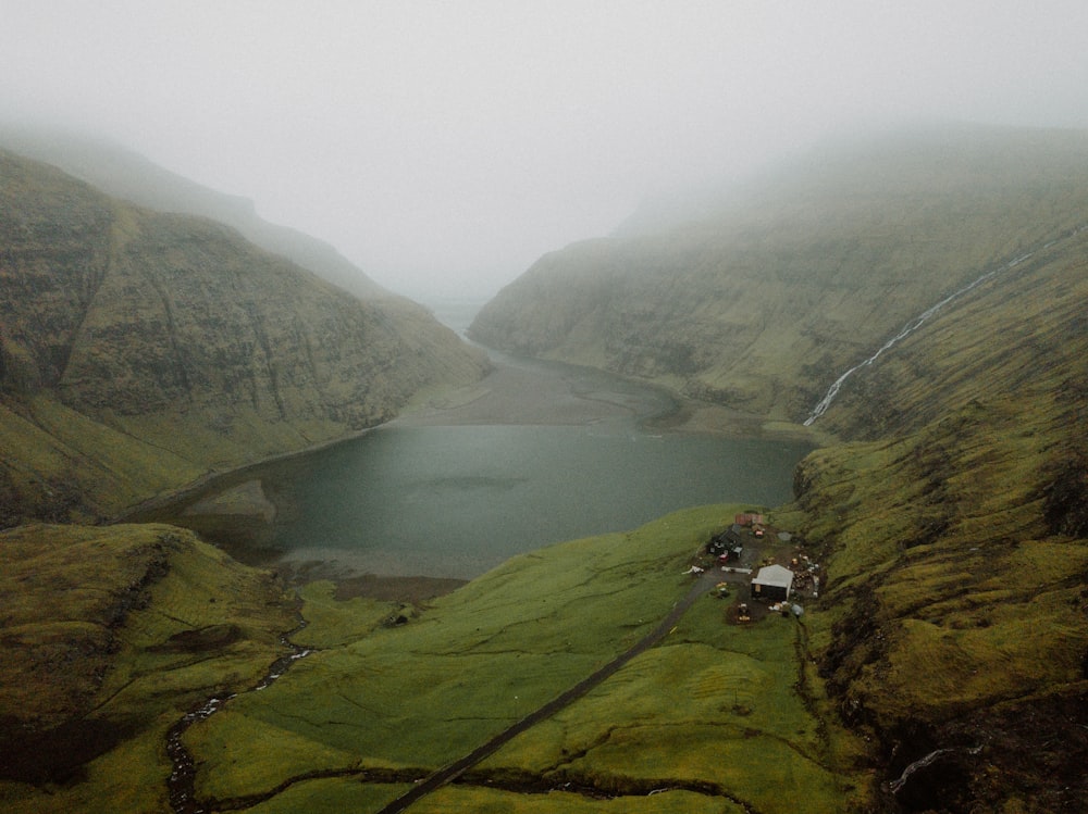
[[[295,603],[170,526],[27,525],[0,547],[2,807],[168,810],[166,730],[256,684]]]

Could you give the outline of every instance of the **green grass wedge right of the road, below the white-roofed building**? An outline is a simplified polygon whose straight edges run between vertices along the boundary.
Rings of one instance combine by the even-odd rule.
[[[480,778],[603,792],[702,788],[766,812],[858,805],[868,785],[861,753],[818,712],[804,626],[777,615],[725,625],[722,605],[696,604],[665,644],[519,736]]]

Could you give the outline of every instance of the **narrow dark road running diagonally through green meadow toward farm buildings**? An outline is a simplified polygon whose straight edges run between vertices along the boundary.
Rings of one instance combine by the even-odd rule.
[[[508,729],[499,732],[486,743],[478,747],[460,760],[457,760],[454,763],[440,768],[437,772],[434,772],[429,777],[413,786],[410,790],[391,802],[384,809],[381,809],[378,814],[397,814],[398,812],[405,811],[420,798],[430,794],[432,791],[445,786],[447,782],[455,780],[484,757],[487,757],[498,751],[500,747],[512,740],[515,736],[520,735],[542,721],[552,717],[564,707],[569,706],[594,687],[597,687],[599,684],[613,676],[620,669],[620,667],[634,659],[634,656],[646,652],[650,648],[654,647],[654,644],[668,636],[688,609],[695,603],[695,600],[714,588],[718,579],[719,576],[716,573],[710,571],[704,572],[695,579],[694,585],[692,585],[687,596],[672,608],[672,611],[662,621],[662,623],[635,642],[630,649],[617,655],[591,676],[566,690],[562,694],[544,704],[535,712],[532,712],[521,718],[521,721],[518,721]]]

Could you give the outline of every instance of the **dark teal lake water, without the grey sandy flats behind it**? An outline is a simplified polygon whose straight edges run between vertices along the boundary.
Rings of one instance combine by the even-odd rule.
[[[289,508],[272,547],[287,562],[467,579],[683,506],[786,502],[809,450],[633,427],[382,427],[269,473]]]

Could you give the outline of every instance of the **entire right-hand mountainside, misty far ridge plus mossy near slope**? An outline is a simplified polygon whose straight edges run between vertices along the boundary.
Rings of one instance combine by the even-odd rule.
[[[927,130],[794,170],[543,258],[470,335],[765,422],[873,360],[774,513],[824,563],[828,700],[874,744],[881,810],[1083,811],[1088,134]]]

